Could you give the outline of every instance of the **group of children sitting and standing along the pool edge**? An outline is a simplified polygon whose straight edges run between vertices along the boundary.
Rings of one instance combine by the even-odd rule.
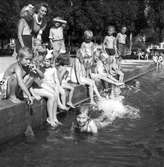
[[[102,45],[92,42],[93,32],[86,30],[85,40],[77,51],[75,61],[71,67],[66,67],[62,65],[62,59],[61,61],[56,59],[66,52],[63,27],[67,22],[60,17],[55,18],[53,22],[54,26],[49,34],[52,50],[47,50],[40,43],[36,43],[33,52],[29,48],[21,48],[17,62],[4,73],[1,92],[3,98],[9,98],[14,103],[20,102],[16,95],[19,90],[22,90],[22,96],[31,104],[34,99],[46,98],[47,122],[56,127],[61,124],[57,119],[57,107],[63,110],[75,107],[72,104],[74,86],[69,82],[72,72],[76,74],[76,84],[89,87],[91,104],[96,104],[94,93],[98,99],[102,98],[96,86],[97,80],[103,80],[114,87],[123,85],[124,74],[120,68],[120,56],[124,54],[126,27],[114,37],[115,28],[109,26],[108,35]],[[68,102],[67,91],[69,91]]]

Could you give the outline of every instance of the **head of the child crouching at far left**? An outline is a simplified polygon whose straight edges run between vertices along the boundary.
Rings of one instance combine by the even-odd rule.
[[[21,48],[17,55],[17,61],[22,66],[28,66],[33,58],[32,50],[24,47]]]

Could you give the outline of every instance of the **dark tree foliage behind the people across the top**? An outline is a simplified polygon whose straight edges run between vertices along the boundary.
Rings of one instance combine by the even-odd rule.
[[[68,21],[66,40],[71,45],[82,41],[83,31],[93,30],[95,41],[102,41],[109,24],[119,31],[122,25],[129,32],[137,34],[144,30],[147,36],[163,38],[164,2],[162,0],[43,0],[49,4],[48,26],[44,41],[48,40],[51,20],[62,16]],[[0,4],[0,38],[17,37],[17,22],[21,8],[29,3],[36,5],[39,0],[5,0]],[[145,7],[148,6],[145,16]],[[155,35],[152,35],[155,34]],[[150,37],[151,38],[151,37]]]

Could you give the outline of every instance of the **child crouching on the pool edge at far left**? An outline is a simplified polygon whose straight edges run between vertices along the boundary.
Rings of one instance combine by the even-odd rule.
[[[33,82],[29,68],[32,58],[32,51],[29,48],[21,48],[19,50],[17,62],[7,68],[1,81],[1,91],[4,99],[19,103],[20,100],[16,97],[17,87],[19,86],[30,103],[33,103],[33,98],[28,90]]]

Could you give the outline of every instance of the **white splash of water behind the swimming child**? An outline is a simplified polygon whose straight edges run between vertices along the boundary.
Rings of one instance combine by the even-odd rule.
[[[107,116],[112,122],[116,118],[140,118],[139,109],[130,105],[123,105],[119,98],[104,98],[98,102],[98,108],[99,110],[103,110],[104,115]]]

